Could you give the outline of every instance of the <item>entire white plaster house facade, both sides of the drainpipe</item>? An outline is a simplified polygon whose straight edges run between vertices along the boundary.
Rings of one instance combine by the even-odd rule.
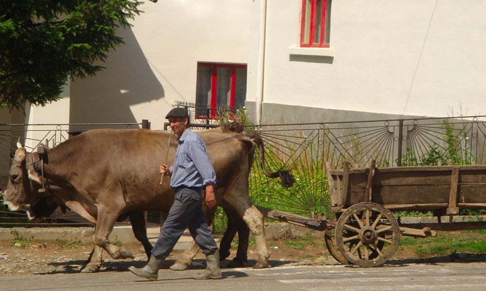
[[[461,113],[459,104],[463,114],[486,113],[486,1],[334,0],[327,49],[299,48],[301,5],[146,2],[132,29],[120,31],[126,44],[110,52],[106,69],[71,82],[69,102],[33,108],[27,120],[57,122],[61,112],[71,123],[149,119],[161,129],[174,100],[195,101],[197,62],[247,64],[248,108],[255,114],[261,100],[266,120],[300,120],[294,106],[335,110],[341,120],[356,112],[446,116]],[[56,113],[45,113],[50,107]]]

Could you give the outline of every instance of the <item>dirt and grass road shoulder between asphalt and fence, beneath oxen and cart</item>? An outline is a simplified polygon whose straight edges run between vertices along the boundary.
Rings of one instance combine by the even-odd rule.
[[[479,251],[461,251],[461,243],[479,244]],[[399,249],[387,264],[437,263],[437,262],[484,262],[486,233],[442,232],[438,238],[402,238]],[[248,251],[247,267],[255,263],[255,247]],[[339,264],[328,253],[324,240],[320,238],[298,237],[268,240],[271,252],[270,264],[281,265],[334,265]],[[438,246],[437,246],[438,245]],[[135,259],[115,260],[104,253],[101,272],[125,272],[129,266],[143,266],[146,256],[139,243],[124,243]],[[441,248],[442,247],[442,248]],[[454,249],[455,247],[455,249]],[[24,275],[70,274],[80,272],[84,261],[91,252],[92,245],[87,242],[32,241],[29,246],[14,246],[9,240],[0,240],[0,277]],[[181,252],[174,251],[168,258],[168,268]],[[232,259],[236,249],[231,250]],[[221,262],[225,268],[229,260]],[[204,268],[204,255],[199,252],[191,268]]]

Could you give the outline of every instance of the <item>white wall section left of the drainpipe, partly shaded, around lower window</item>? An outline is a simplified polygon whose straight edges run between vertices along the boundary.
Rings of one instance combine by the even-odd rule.
[[[160,129],[174,100],[195,101],[197,62],[248,64],[251,79],[258,8],[240,0],[144,3],[106,69],[72,83],[70,121],[149,119]]]

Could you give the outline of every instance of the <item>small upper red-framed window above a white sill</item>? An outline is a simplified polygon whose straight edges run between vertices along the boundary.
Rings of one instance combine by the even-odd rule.
[[[329,48],[332,0],[302,0],[300,46]]]

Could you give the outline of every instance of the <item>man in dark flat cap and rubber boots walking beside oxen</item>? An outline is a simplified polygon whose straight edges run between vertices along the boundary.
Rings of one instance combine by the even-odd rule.
[[[151,281],[157,279],[158,270],[171,253],[175,243],[189,227],[194,241],[206,255],[207,268],[194,279],[222,278],[219,269],[219,250],[206,215],[202,210],[202,192],[206,191],[205,203],[215,207],[214,183],[216,174],[206,153],[203,140],[188,128],[189,114],[184,108],[174,108],[167,116],[170,126],[177,136],[179,146],[174,157],[174,165],[160,165],[160,173],[171,176],[170,186],[174,189],[175,200],[152,250],[147,265],[143,268],[128,268],[133,274]]]

